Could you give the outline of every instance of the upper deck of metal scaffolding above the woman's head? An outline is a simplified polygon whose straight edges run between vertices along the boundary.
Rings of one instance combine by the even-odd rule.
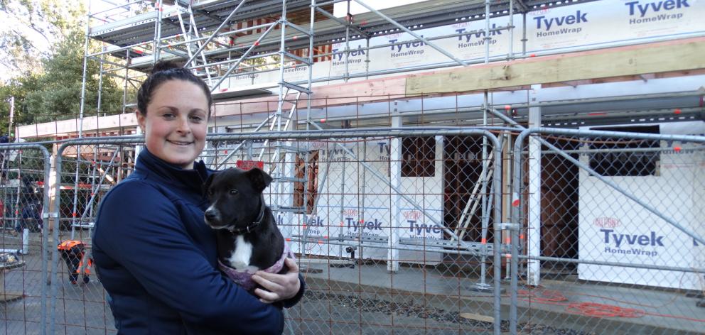
[[[98,53],[86,53],[86,59],[110,65],[109,68],[102,69],[102,74],[124,72],[124,76],[113,76],[124,79],[126,85],[128,82],[139,83],[139,79],[144,77],[144,71],[149,70],[157,60],[180,60],[197,75],[206,79],[212,87],[214,98],[218,101],[255,94],[272,94],[267,90],[271,88],[281,95],[284,93],[281,86],[306,92],[305,88],[309,82],[330,82],[336,79],[347,81],[356,77],[465,66],[470,64],[468,60],[451,55],[433,41],[478,31],[463,31],[433,38],[424,38],[414,31],[484,19],[486,27],[479,33],[486,31],[485,38],[498,31],[508,31],[511,36],[515,28],[511,18],[515,13],[525,16],[528,11],[547,6],[558,7],[588,1],[449,0],[443,1],[443,6],[438,6],[436,1],[421,1],[381,11],[357,0],[172,1],[171,5],[151,1],[154,5],[153,11],[127,18],[124,13],[115,12],[123,9],[129,13],[131,6],[141,2],[132,1],[115,9],[89,14],[89,22],[99,22],[99,25],[90,26],[89,23],[87,38],[100,40],[108,46]],[[337,3],[345,3],[348,6],[348,14],[344,18],[330,13],[333,5]],[[349,13],[351,3],[359,4],[369,11],[353,16]],[[305,17],[307,13],[308,17]],[[509,16],[510,24],[490,28],[490,18],[501,16]],[[524,31],[525,25],[524,19]],[[279,29],[281,33],[272,33],[274,29]],[[394,41],[370,47],[370,38],[400,32],[409,33],[414,40]],[[362,51],[421,42],[446,55],[447,62],[425,65],[423,68],[409,67],[384,72],[369,72],[366,69],[363,72],[350,72],[347,68],[348,57],[355,51],[350,49],[350,42],[356,40],[366,40],[367,47],[361,48]],[[522,40],[525,42],[525,36]],[[345,43],[343,50],[331,50],[332,43],[342,42]],[[116,61],[105,60],[106,55]],[[311,77],[310,68],[313,62],[333,55],[345,60],[345,73],[339,76]],[[522,55],[515,54],[510,46],[504,57],[493,58],[492,61],[512,60],[515,57]],[[284,71],[303,67],[308,69],[306,79],[284,81]],[[258,84],[257,87],[233,88],[226,82],[233,77],[252,77],[271,71],[280,72],[279,80]],[[296,87],[298,84],[303,86]],[[282,100],[280,97],[279,101]],[[131,107],[134,107],[134,103],[126,99],[123,110]]]

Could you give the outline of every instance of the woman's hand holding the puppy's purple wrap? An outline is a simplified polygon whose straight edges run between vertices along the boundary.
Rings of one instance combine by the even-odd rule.
[[[259,297],[259,301],[265,304],[271,304],[272,302],[287,300],[294,297],[296,293],[298,293],[298,290],[301,289],[301,282],[298,281],[298,265],[296,265],[296,261],[291,258],[286,258],[284,262],[289,268],[288,273],[279,275],[260,270],[252,275],[252,280],[266,289],[262,290],[261,288],[257,288],[254,290],[254,294]]]

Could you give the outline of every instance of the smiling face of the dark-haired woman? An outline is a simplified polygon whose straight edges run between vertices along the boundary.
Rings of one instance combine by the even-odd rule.
[[[203,89],[185,80],[169,80],[152,93],[146,115],[137,113],[147,150],[184,169],[203,151],[208,128],[208,99]]]

